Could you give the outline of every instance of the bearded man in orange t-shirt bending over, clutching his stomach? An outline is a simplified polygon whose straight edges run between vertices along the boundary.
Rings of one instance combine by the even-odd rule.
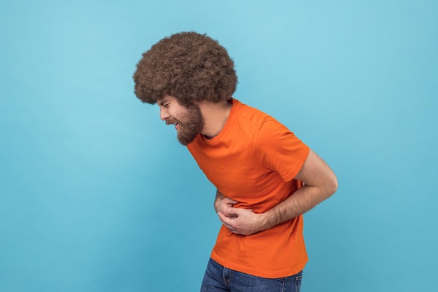
[[[337,190],[330,167],[284,125],[232,97],[234,62],[209,36],[162,39],[143,53],[134,82],[217,188],[223,225],[201,291],[299,291],[302,214]]]

